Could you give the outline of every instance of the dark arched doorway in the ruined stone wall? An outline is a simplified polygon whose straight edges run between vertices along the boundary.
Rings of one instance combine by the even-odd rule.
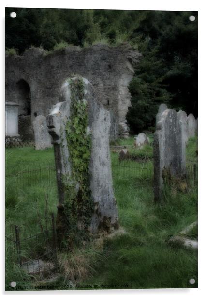
[[[31,125],[31,91],[27,81],[20,79],[16,83],[18,97],[18,132],[23,141],[32,141],[33,132]]]

